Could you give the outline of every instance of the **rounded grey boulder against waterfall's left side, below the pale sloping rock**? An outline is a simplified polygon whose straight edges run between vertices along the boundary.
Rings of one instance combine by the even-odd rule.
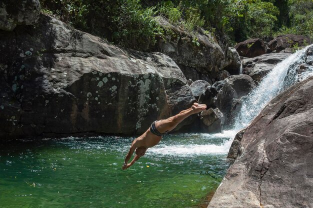
[[[247,95],[256,87],[253,79],[246,74],[231,75],[226,81],[236,91],[238,98]]]

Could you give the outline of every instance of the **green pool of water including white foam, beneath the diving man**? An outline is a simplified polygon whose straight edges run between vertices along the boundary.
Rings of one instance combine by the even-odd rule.
[[[2,143],[0,207],[197,207],[228,167],[229,138],[199,133],[167,135],[121,170],[133,139]]]

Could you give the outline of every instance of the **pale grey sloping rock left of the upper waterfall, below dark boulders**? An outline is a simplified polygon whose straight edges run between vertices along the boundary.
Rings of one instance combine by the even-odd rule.
[[[275,65],[287,58],[290,53],[269,53],[253,58],[242,59],[242,72],[252,77],[257,84]]]

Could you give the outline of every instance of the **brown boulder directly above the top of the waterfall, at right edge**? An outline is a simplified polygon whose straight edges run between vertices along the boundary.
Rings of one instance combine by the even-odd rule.
[[[285,34],[279,35],[268,42],[268,47],[271,50],[275,50],[279,52],[285,48],[290,48],[293,45],[297,44],[297,46],[305,46],[311,44],[310,38],[303,35],[296,34]]]

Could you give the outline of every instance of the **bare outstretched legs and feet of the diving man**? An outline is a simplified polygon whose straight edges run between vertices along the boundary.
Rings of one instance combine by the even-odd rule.
[[[206,109],[205,104],[193,103],[192,107],[180,111],[178,114],[171,116],[164,120],[159,120],[155,123],[155,127],[160,133],[164,133],[166,131],[171,131],[174,129],[182,120],[184,120],[189,115],[201,112]]]

